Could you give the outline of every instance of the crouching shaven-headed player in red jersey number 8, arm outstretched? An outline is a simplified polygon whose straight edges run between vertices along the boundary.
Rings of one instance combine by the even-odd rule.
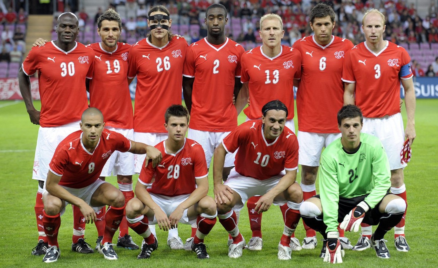
[[[99,109],[88,108],[82,114],[81,130],[61,141],[50,161],[42,194],[42,222],[49,240],[43,262],[55,262],[60,257],[57,237],[60,214],[64,213],[67,203],[79,207],[87,223],[97,220],[96,212],[102,206],[110,206],[98,250],[107,260],[118,258],[112,239],[123,218],[125,198],[116,187],[99,179],[99,175],[114,151],[148,154],[146,163],[152,159],[153,166],[161,161],[162,155],[154,147],[131,141],[118,132],[104,129],[104,126]]]

